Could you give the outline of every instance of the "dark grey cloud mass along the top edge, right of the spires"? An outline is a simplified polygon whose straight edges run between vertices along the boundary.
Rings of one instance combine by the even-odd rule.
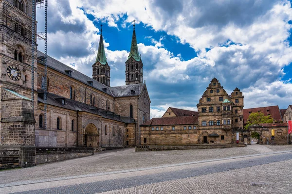
[[[151,4],[164,25],[175,25],[173,20],[183,16],[186,25],[193,28],[216,25],[222,28],[232,22],[238,26],[251,24],[258,16],[270,10],[275,0],[156,0]]]

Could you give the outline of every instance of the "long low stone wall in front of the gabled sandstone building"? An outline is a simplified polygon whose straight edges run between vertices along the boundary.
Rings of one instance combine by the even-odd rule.
[[[210,149],[210,148],[230,148],[230,147],[245,147],[245,146],[246,146],[245,144],[153,145],[153,146],[136,146],[135,151]]]

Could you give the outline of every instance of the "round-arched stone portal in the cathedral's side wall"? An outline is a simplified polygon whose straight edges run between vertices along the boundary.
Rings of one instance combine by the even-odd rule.
[[[84,131],[84,146],[98,147],[99,135],[95,125],[88,124]]]

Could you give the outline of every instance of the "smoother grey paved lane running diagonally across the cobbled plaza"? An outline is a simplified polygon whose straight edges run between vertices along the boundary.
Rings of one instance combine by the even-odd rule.
[[[66,186],[66,187],[40,189],[40,190],[22,192],[22,193],[17,193],[17,194],[100,193],[100,192],[106,192],[106,191],[112,191],[112,190],[121,190],[125,188],[137,187],[137,186],[142,186],[142,185],[147,185],[147,184],[159,183],[159,182],[164,182],[164,181],[172,181],[172,180],[177,180],[177,179],[182,179],[182,178],[197,177],[201,175],[208,175],[208,174],[213,174],[213,173],[218,173],[218,172],[230,171],[234,169],[242,169],[242,168],[247,168],[247,167],[252,167],[252,166],[257,166],[257,165],[262,165],[262,164],[269,164],[272,162],[287,161],[287,160],[292,160],[291,152],[279,154],[276,157],[273,155],[267,155],[262,158],[249,159],[245,162],[228,162],[228,163],[221,163],[221,164],[212,165],[212,166],[171,171],[171,172],[159,173],[159,174],[154,174],[154,175],[145,175],[145,176],[121,178],[121,179],[117,178],[117,179],[111,179],[111,180],[106,180],[106,181],[71,185],[71,186]],[[218,182],[218,180],[216,181]],[[151,190],[149,191],[150,191],[149,193],[152,193]],[[132,192],[132,193],[135,193],[135,192]],[[164,193],[164,191],[160,191],[159,193]],[[188,191],[188,193],[192,193],[192,192]]]

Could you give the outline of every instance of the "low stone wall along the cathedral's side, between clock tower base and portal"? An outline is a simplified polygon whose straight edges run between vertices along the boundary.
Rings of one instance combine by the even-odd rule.
[[[37,164],[64,161],[94,154],[93,147],[37,147],[36,150]]]

